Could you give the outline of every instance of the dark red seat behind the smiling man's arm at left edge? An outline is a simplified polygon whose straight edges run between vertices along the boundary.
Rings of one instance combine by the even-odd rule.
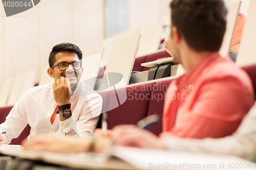
[[[0,108],[0,124],[5,122],[6,116],[9,114],[12,107],[13,106]],[[20,144],[25,138],[28,137],[28,135],[30,134],[30,129],[31,129],[30,126],[27,125],[27,127],[23,130],[23,132],[16,139],[12,139],[10,144]]]

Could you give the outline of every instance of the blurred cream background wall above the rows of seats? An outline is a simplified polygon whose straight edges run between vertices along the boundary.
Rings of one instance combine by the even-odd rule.
[[[39,81],[41,71],[46,71],[42,68],[48,64],[48,56],[54,45],[71,42],[83,51],[86,46],[101,42],[126,28],[139,30],[147,22],[159,21],[169,14],[169,2],[41,0],[35,7],[10,17],[6,17],[0,4],[0,80],[38,68]],[[247,12],[246,0],[244,2],[242,8]],[[112,6],[106,6],[108,4]],[[120,15],[122,17],[114,19]],[[113,17],[113,20],[108,17]],[[110,27],[111,23],[112,26],[116,25]]]

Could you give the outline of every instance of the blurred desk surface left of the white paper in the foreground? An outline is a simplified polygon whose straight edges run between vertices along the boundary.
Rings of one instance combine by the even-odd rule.
[[[53,152],[27,152],[23,148],[0,147],[3,155],[43,161],[46,163],[67,166],[78,169],[137,169],[118,158],[110,157],[106,160],[103,154],[71,153],[61,154]]]

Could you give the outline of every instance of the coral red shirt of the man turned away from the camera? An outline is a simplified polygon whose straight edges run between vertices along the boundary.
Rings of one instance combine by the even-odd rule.
[[[253,88],[246,72],[230,58],[212,53],[168,86],[160,137],[230,135],[253,102]]]

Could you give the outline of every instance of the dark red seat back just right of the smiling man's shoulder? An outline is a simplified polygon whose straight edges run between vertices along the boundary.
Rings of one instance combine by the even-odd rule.
[[[121,124],[136,125],[139,120],[146,117],[153,85],[154,83],[149,83],[117,89],[117,94],[124,89],[127,94],[127,100],[119,107],[116,107],[118,106],[116,93],[112,91],[109,109],[114,109],[108,112],[108,129]]]

